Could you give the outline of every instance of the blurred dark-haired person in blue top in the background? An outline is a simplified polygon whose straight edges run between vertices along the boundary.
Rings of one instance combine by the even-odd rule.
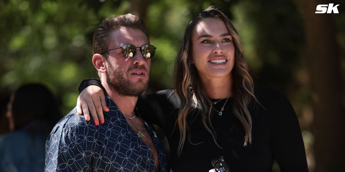
[[[12,132],[0,141],[0,171],[42,171],[47,136],[61,117],[53,94],[40,84],[21,86],[11,95],[6,116]]]

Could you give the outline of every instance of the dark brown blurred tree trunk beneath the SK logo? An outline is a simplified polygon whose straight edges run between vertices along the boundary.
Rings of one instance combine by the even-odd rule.
[[[333,15],[337,14],[315,13],[318,4],[329,2],[298,3],[303,12],[305,60],[311,80],[315,172],[345,171],[342,78],[333,21]]]

